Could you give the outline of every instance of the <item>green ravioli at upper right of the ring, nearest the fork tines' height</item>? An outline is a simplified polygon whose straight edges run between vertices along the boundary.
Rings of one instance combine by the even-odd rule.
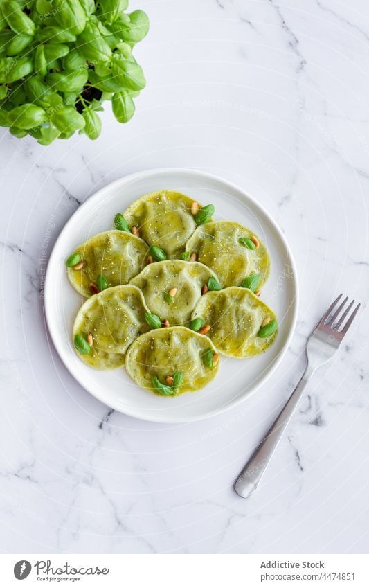
[[[186,251],[197,253],[197,260],[211,267],[223,287],[240,286],[246,276],[260,274],[260,286],[269,276],[269,255],[259,241],[249,249],[240,239],[251,239],[255,233],[230,220],[208,222],[199,226],[186,244]]]

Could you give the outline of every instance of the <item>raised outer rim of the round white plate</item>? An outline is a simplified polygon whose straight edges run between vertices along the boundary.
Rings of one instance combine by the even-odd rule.
[[[119,184],[124,184],[125,182],[133,183],[134,181],[144,179],[147,176],[154,176],[154,175],[160,175],[160,174],[165,174],[165,173],[167,173],[167,174],[170,173],[170,174],[175,175],[176,173],[183,173],[183,172],[185,172],[189,175],[192,175],[192,177],[197,176],[197,177],[210,179],[212,181],[220,182],[221,184],[224,184],[224,185],[232,188],[233,190],[238,191],[246,199],[248,199],[249,202],[251,202],[257,209],[260,209],[260,211],[262,211],[262,213],[265,215],[265,217],[267,217],[267,220],[271,224],[273,231],[276,231],[276,233],[278,234],[278,238],[282,241],[282,243],[285,247],[285,251],[286,251],[287,256],[289,258],[289,262],[291,264],[292,274],[294,276],[294,279],[293,279],[294,296],[293,296],[292,303],[291,303],[291,306],[293,307],[291,309],[291,313],[292,313],[291,314],[291,327],[289,329],[289,333],[287,335],[285,344],[283,345],[282,349],[280,350],[279,355],[276,357],[275,361],[273,362],[273,365],[271,366],[271,368],[269,368],[267,373],[264,374],[264,376],[261,378],[261,380],[248,391],[248,393],[246,395],[243,395],[243,396],[241,395],[240,398],[236,397],[232,402],[225,404],[224,407],[220,407],[219,409],[210,410],[205,415],[200,415],[200,416],[189,416],[187,418],[183,418],[181,416],[179,416],[179,418],[173,418],[172,416],[170,416],[169,418],[165,418],[165,415],[160,416],[160,417],[156,417],[156,415],[154,413],[150,417],[149,416],[138,416],[137,413],[134,413],[134,411],[129,411],[129,409],[125,409],[125,407],[121,407],[121,406],[118,407],[114,403],[107,404],[106,399],[102,398],[102,395],[95,393],[94,391],[91,391],[89,388],[87,388],[87,386],[85,386],[84,382],[82,381],[82,377],[78,376],[78,371],[71,368],[66,357],[64,358],[64,352],[61,350],[59,344],[57,343],[55,326],[53,326],[53,320],[51,319],[51,296],[50,296],[50,294],[48,294],[49,290],[51,291],[51,285],[49,285],[50,280],[51,280],[51,278],[50,278],[51,271],[49,271],[49,269],[53,265],[53,261],[56,256],[56,253],[57,253],[57,245],[59,244],[60,240],[62,239],[62,235],[64,234],[64,231],[68,230],[69,224],[71,224],[71,222],[75,218],[75,216],[82,215],[82,213],[84,211],[84,207],[87,206],[87,204],[89,204],[89,206],[91,206],[91,204],[93,204],[93,202],[98,201],[98,199],[100,199],[102,197],[103,193],[109,191],[111,188],[114,188],[115,186],[118,186]],[[133,172],[131,174],[127,174],[125,176],[122,176],[118,179],[115,179],[114,181],[109,182],[109,184],[106,184],[106,186],[102,186],[102,188],[97,190],[97,192],[95,192],[91,196],[89,196],[85,202],[80,204],[80,206],[78,206],[77,210],[71,215],[69,220],[67,220],[66,224],[64,224],[62,230],[60,231],[59,235],[57,236],[57,239],[55,240],[50,257],[48,258],[48,263],[47,263],[47,267],[46,267],[46,274],[45,274],[45,281],[44,281],[44,313],[45,313],[45,318],[46,318],[46,326],[48,328],[48,334],[51,337],[51,341],[53,341],[53,346],[55,347],[55,350],[57,351],[57,355],[62,360],[62,363],[64,364],[67,371],[69,371],[69,373],[78,382],[78,384],[80,384],[80,386],[82,386],[82,388],[85,391],[87,391],[89,394],[91,394],[93,396],[93,398],[96,398],[97,400],[102,402],[102,404],[105,404],[105,406],[110,407],[110,408],[116,410],[117,412],[125,414],[131,418],[138,418],[139,420],[144,420],[146,422],[159,422],[159,423],[166,424],[166,425],[180,424],[180,423],[185,423],[185,422],[196,422],[199,420],[204,420],[206,418],[211,418],[213,416],[217,416],[225,411],[228,411],[229,409],[233,409],[233,408],[237,407],[241,402],[244,402],[246,399],[250,398],[251,395],[253,395],[256,391],[258,391],[258,389],[260,389],[260,387],[262,385],[264,385],[267,382],[267,380],[269,380],[271,375],[276,371],[276,369],[278,368],[278,366],[282,362],[282,359],[285,357],[285,353],[287,352],[287,349],[289,348],[289,344],[291,343],[291,339],[294,336],[294,332],[296,330],[296,323],[297,323],[297,319],[298,319],[298,307],[299,307],[299,284],[298,284],[298,273],[297,273],[297,269],[296,269],[296,262],[294,260],[293,253],[291,251],[291,248],[289,247],[289,243],[287,242],[285,234],[282,233],[282,230],[280,229],[280,227],[278,226],[276,221],[273,219],[271,214],[264,208],[264,206],[262,204],[260,204],[260,202],[258,202],[253,196],[249,195],[249,193],[246,192],[246,190],[244,190],[243,188],[241,188],[237,184],[233,183],[232,181],[229,181],[228,179],[224,179],[223,177],[220,177],[218,175],[215,175],[215,174],[212,174],[209,172],[204,172],[202,170],[194,170],[192,168],[174,167],[174,168],[152,168],[152,169],[148,169],[148,170],[141,170],[139,172]]]

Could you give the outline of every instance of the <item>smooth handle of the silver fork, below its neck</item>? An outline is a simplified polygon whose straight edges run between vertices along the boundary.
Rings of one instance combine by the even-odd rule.
[[[244,470],[242,470],[240,476],[237,478],[235,491],[240,497],[248,498],[253,494],[254,490],[258,488],[258,483],[262,478],[262,474],[264,474],[264,471],[267,469],[271,456],[276,451],[280,438],[282,437],[313,372],[314,369],[307,366],[300,382],[298,382],[296,388],[287,400],[285,407],[280,411],[279,416],[273,422],[273,425],[271,425],[267,435],[258,445],[255,452],[246,463]]]

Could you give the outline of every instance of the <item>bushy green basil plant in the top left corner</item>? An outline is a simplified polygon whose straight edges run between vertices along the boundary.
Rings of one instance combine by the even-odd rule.
[[[111,100],[127,123],[145,87],[134,45],[149,30],[128,0],[0,0],[0,125],[41,145],[75,131],[97,139]]]

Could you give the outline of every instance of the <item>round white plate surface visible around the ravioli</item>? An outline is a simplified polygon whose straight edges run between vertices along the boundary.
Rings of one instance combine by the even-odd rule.
[[[217,377],[197,393],[160,398],[130,379],[124,368],[96,371],[78,359],[71,339],[75,314],[82,303],[66,278],[65,260],[77,245],[92,235],[114,227],[114,216],[136,198],[156,190],[177,190],[202,204],[215,205],[215,219],[229,219],[253,229],[267,245],[271,275],[262,299],[276,312],[279,332],[266,353],[253,359],[221,357]],[[188,422],[234,407],[255,391],[276,369],[296,324],[298,284],[291,251],[269,213],[244,190],[199,171],[159,169],[139,172],[114,181],[91,196],[60,233],[45,281],[48,329],[66,368],[93,396],[129,416],[156,422]]]

